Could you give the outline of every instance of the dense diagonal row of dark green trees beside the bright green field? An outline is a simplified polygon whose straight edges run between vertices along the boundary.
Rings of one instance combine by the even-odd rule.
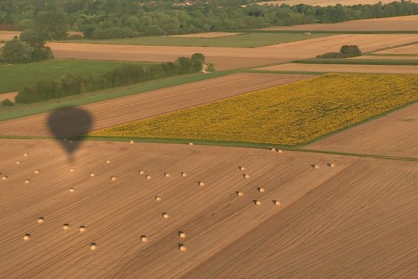
[[[180,57],[174,62],[158,63],[151,66],[131,63],[114,68],[107,73],[92,74],[86,77],[68,74],[58,80],[45,79],[32,86],[25,86],[22,91],[17,93],[15,101],[16,103],[36,103],[146,80],[196,73],[201,70],[204,61],[205,56],[196,53],[191,58]]]

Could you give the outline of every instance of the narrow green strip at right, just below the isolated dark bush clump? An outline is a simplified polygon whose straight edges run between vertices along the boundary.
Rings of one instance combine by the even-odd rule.
[[[414,60],[392,60],[392,59],[339,59],[339,58],[313,58],[296,60],[293,63],[302,64],[355,64],[355,65],[403,65],[417,66],[418,59]]]

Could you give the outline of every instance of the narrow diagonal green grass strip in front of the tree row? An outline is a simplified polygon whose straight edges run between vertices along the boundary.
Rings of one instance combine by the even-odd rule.
[[[60,107],[73,107],[77,105],[86,105],[89,103],[99,102],[101,100],[109,100],[112,98],[119,98],[123,96],[143,93],[146,91],[162,89],[164,87],[176,86],[189,82],[197,82],[199,80],[207,80],[213,77],[221,77],[223,75],[230,75],[237,73],[239,70],[226,70],[206,74],[182,75],[177,77],[168,77],[160,80],[152,80],[135,84],[133,86],[123,86],[113,89],[105,89],[101,91],[94,91],[91,93],[83,93],[75,96],[68,96],[56,100],[48,100],[40,103],[33,103],[27,105],[15,105],[9,108],[0,107],[0,121],[15,119],[22,116],[29,116],[42,112],[50,112],[59,109]]]

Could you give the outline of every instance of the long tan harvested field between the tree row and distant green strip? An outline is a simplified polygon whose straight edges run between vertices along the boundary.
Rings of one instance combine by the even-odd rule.
[[[418,34],[343,34],[299,40],[265,47],[176,47],[149,45],[102,45],[88,43],[48,43],[56,58],[120,61],[174,61],[178,56],[205,54],[217,70],[262,66],[295,59],[311,58],[341,45],[359,45],[363,52],[418,41]]]

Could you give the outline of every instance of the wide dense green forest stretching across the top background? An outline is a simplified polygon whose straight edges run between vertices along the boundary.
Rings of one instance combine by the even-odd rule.
[[[2,0],[0,29],[34,28],[47,39],[65,39],[67,30],[85,38],[127,38],[307,23],[332,23],[418,14],[418,3],[289,6],[254,4],[249,0]],[[247,4],[242,6],[242,4]]]

